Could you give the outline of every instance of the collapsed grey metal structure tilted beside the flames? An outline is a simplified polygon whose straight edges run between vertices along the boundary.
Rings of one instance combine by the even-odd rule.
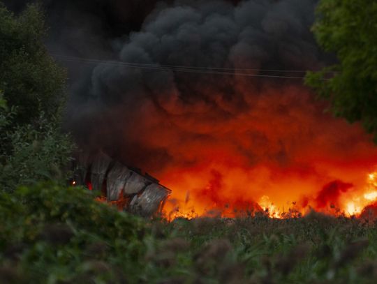
[[[100,190],[103,199],[119,209],[145,217],[161,213],[171,190],[139,169],[126,167],[102,152],[80,154],[75,167],[76,184]]]

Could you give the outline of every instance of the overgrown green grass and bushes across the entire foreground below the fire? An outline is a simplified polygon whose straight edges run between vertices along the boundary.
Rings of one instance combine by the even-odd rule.
[[[146,221],[80,188],[0,194],[1,283],[376,283],[375,224],[311,213],[285,220]]]

